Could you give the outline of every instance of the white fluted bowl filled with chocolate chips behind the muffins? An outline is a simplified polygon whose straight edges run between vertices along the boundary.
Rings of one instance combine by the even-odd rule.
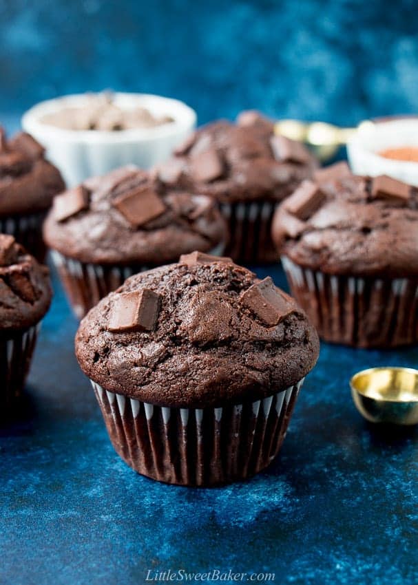
[[[77,94],[41,102],[22,126],[47,149],[69,187],[127,164],[167,160],[196,126],[196,112],[151,94]]]

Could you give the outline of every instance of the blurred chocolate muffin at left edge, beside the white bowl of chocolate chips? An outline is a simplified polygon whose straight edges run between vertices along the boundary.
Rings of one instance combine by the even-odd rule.
[[[0,232],[13,235],[40,262],[45,213],[63,189],[59,170],[45,160],[39,142],[25,132],[7,140],[0,127]]]

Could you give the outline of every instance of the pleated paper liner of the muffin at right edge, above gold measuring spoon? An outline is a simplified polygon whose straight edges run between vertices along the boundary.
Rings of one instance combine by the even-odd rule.
[[[291,293],[325,341],[362,348],[418,343],[418,277],[328,275],[282,257]]]

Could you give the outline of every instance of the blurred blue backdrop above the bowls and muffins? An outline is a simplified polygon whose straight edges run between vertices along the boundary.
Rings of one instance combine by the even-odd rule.
[[[32,6],[33,5],[33,6]],[[353,124],[418,111],[415,2],[0,0],[0,115],[106,87]]]

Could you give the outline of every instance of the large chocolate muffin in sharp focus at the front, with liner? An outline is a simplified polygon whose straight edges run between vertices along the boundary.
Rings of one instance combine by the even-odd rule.
[[[118,454],[181,485],[269,465],[318,352],[306,315],[270,278],[198,252],[127,279],[76,334]]]

